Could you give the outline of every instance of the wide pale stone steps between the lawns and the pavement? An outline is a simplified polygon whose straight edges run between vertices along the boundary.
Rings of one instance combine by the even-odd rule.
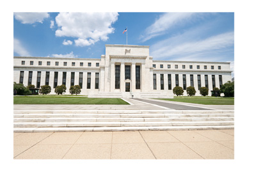
[[[234,129],[234,110],[15,110],[14,132]]]

